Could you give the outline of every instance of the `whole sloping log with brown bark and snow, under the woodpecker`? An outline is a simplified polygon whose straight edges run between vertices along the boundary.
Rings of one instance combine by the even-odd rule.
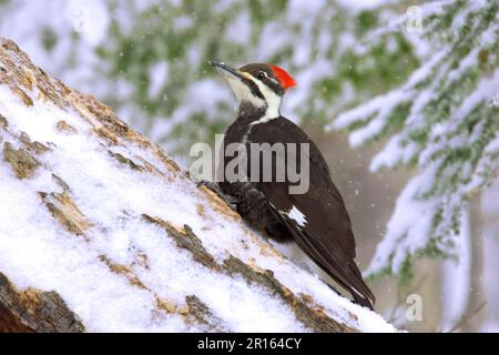
[[[0,332],[391,332],[0,39]]]

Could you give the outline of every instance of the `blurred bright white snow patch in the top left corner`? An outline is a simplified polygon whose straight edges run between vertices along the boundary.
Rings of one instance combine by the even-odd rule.
[[[93,94],[105,91],[96,74],[102,62],[94,48],[108,38],[111,19],[106,2],[17,0],[2,7],[0,16],[1,36],[16,41],[34,62],[43,63],[48,73],[63,77],[73,88],[91,89]],[[45,32],[57,37],[51,50],[42,47]],[[78,44],[72,38],[74,32],[81,38]],[[78,59],[78,65],[68,65],[72,57]]]

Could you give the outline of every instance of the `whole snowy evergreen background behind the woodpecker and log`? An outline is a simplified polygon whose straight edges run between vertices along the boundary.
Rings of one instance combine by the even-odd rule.
[[[496,332],[496,2],[0,0],[0,36],[184,168],[236,114],[210,59],[285,68],[298,87],[282,112],[329,163],[377,311],[408,331]]]

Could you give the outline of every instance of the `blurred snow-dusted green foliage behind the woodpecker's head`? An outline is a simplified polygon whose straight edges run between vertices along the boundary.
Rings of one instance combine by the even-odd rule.
[[[52,1],[57,11],[71,12],[67,2]],[[33,9],[30,1],[3,3],[6,13]],[[31,30],[19,29],[20,38],[38,38],[45,68],[96,94],[174,155],[186,156],[193,142],[212,142],[234,119],[235,101],[207,65],[211,59],[282,65],[298,80],[283,112],[323,124],[401,84],[419,65],[401,33],[358,51],[358,43],[386,23],[385,9],[285,0],[112,0],[105,7],[110,23],[98,43],[68,30],[78,20],[71,18],[61,27],[37,17]]]

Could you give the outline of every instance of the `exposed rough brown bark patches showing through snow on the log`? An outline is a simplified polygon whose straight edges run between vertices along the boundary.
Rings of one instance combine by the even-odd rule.
[[[135,144],[147,149],[154,153],[162,164],[167,166],[170,172],[189,179],[157,145],[120,121],[111,109],[93,97],[71,90],[59,80],[50,78],[42,69],[34,67],[28,55],[12,41],[6,39],[0,39],[0,85],[9,88],[27,106],[32,106],[33,100],[37,100],[78,112],[82,120],[93,126],[92,133],[102,141],[102,145],[105,146],[110,156],[131,170],[144,174],[163,175],[156,166],[144,159],[132,160],[113,152],[114,146]],[[38,94],[38,98],[31,97],[33,92]],[[75,134],[77,132],[77,129],[64,121],[60,121],[57,129],[63,134]],[[16,176],[20,180],[30,179],[38,169],[41,169],[39,156],[53,149],[50,144],[33,142],[26,133],[16,136],[19,142],[22,142],[22,148],[14,149],[10,143],[1,142],[2,134],[3,136],[6,134],[12,136],[14,133],[9,130],[9,122],[0,112],[0,149],[2,150],[0,159],[10,164]],[[40,201],[50,211],[54,221],[60,223],[69,233],[78,237],[91,237],[88,235],[88,231],[93,226],[92,221],[80,211],[78,204],[73,201],[71,186],[55,174],[52,174],[52,178],[63,192],[38,192]],[[167,176],[165,178],[167,180]],[[226,219],[240,219],[224,201],[205,186],[200,186],[200,193],[204,195],[214,210]],[[202,206],[198,207],[197,213],[203,215]],[[143,220],[164,230],[165,235],[173,239],[179,248],[189,251],[194,261],[205,267],[224,275],[242,276],[248,283],[267,288],[293,310],[297,322],[303,323],[309,329],[315,332],[357,332],[357,329],[327,314],[312,295],[294,294],[274,277],[272,271],[261,270],[255,265],[244,263],[234,255],[230,255],[222,263],[216,262],[215,257],[205,250],[201,240],[193,233],[187,222],[183,227],[177,227],[156,216],[143,214]],[[259,237],[255,236],[253,242],[262,252],[277,258],[283,257]],[[108,265],[113,273],[126,277],[130,284],[146,290],[144,283],[128,265],[115,264],[105,255],[101,256],[101,262]],[[146,262],[146,255],[144,255],[143,263]],[[33,288],[19,290],[12,281],[8,280],[8,275],[3,275],[1,272],[0,270],[0,332],[85,331],[80,317],[70,310],[57,292],[42,292]],[[180,314],[186,323],[196,324],[205,331],[230,331],[224,324],[224,320],[214,316],[212,311],[196,295],[185,297],[185,303],[182,305],[161,298],[157,298],[156,303],[159,310]],[[350,314],[350,317],[355,320],[356,315]]]

